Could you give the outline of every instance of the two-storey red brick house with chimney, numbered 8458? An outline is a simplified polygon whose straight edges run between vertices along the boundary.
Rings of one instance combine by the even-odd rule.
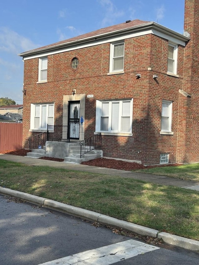
[[[198,6],[185,0],[184,34],[134,20],[19,54],[23,147],[76,121],[70,139],[101,133],[104,157],[199,162]]]

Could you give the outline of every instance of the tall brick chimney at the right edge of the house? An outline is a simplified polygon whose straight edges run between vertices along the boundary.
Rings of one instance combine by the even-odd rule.
[[[199,0],[185,0],[183,87],[179,93],[177,162],[199,162]]]

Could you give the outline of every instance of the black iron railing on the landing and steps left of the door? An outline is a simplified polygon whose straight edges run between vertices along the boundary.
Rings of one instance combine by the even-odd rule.
[[[47,131],[39,133],[29,138],[29,148],[37,149],[44,146],[46,141],[67,141],[70,142],[68,135],[69,126],[48,125]]]

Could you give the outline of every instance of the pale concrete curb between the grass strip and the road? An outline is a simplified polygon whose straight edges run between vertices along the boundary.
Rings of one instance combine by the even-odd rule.
[[[123,230],[127,230],[129,232],[136,233],[138,235],[151,236],[154,238],[162,239],[165,243],[181,247],[184,249],[199,251],[199,241],[188,239],[185,237],[181,237],[178,235],[172,235],[165,232],[160,232],[158,230],[148,228],[145,226],[140,226],[134,223],[130,223],[127,221],[118,220],[113,217],[109,217],[107,215],[92,212],[90,210],[82,209],[79,207],[75,207],[72,205],[68,205],[65,203],[60,203],[57,201],[53,201],[51,199],[46,199],[43,197],[39,197],[36,195],[24,193],[21,191],[11,190],[8,188],[4,188],[0,186],[0,194],[6,196],[13,196],[19,199],[24,199],[30,203],[35,203],[38,205],[43,205],[46,208],[56,210],[58,212],[67,213],[69,215],[86,219],[91,222],[99,222],[101,225],[112,226],[116,228],[122,228]]]

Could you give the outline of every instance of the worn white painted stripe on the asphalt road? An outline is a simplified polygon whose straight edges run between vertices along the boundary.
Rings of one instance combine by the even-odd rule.
[[[110,265],[156,249],[159,248],[131,239],[39,265]]]

